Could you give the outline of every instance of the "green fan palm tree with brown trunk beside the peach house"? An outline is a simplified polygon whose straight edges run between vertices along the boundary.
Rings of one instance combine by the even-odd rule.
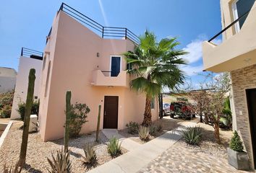
[[[140,45],[135,46],[134,52],[124,53],[127,61],[127,73],[135,76],[130,82],[131,89],[142,92],[146,96],[144,120],[142,125],[148,126],[151,120],[151,102],[163,87],[179,89],[184,83],[184,73],[179,66],[185,64],[180,56],[184,50],[176,50],[179,42],[174,38],[163,38],[159,43],[153,32],[146,31],[140,36]]]

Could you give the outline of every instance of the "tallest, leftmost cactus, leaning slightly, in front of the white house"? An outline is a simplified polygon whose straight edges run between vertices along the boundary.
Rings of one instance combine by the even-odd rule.
[[[31,68],[30,74],[28,76],[27,100],[26,100],[26,106],[25,106],[22,143],[20,148],[20,160],[19,160],[20,167],[23,167],[26,161],[28,129],[30,126],[31,107],[33,105],[34,86],[35,86],[35,69]]]

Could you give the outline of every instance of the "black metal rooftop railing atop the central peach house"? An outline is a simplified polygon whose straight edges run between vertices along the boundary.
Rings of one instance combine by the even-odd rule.
[[[126,27],[105,27],[98,22],[95,22],[95,20],[90,19],[89,17],[85,16],[85,14],[82,14],[81,12],[78,12],[76,9],[73,9],[71,6],[62,3],[59,11],[65,12],[70,17],[76,19],[78,22],[82,23],[86,27],[90,28],[90,30],[93,30],[96,34],[103,38],[124,38],[129,39],[135,44],[140,43],[139,37],[135,35],[133,32],[128,30]],[[48,36],[51,35],[51,30],[48,34]],[[46,40],[47,43],[47,40]]]

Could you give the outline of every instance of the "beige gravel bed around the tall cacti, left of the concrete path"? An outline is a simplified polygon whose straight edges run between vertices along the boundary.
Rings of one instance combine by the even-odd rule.
[[[0,148],[0,172],[2,172],[3,164],[7,166],[14,165],[19,158],[20,143],[22,141],[22,130],[19,130],[22,123],[15,122],[9,130],[7,138],[3,146]],[[95,152],[98,157],[98,165],[110,161],[112,158],[107,152],[106,142],[108,139],[103,133],[100,133],[101,143],[95,146]],[[90,135],[82,135],[80,138],[73,138],[69,141],[70,159],[72,161],[72,172],[87,172],[88,168],[82,164],[82,150],[85,143],[95,141],[95,133]],[[43,142],[39,133],[31,133],[28,138],[26,170],[22,172],[47,172],[50,169],[47,157],[51,158],[51,152],[54,154],[56,150],[63,147],[63,139],[56,141]],[[123,153],[127,150],[122,148]]]

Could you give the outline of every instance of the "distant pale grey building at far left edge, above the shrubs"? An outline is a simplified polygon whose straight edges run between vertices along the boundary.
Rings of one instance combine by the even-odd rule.
[[[0,67],[0,93],[14,89],[16,76],[17,72],[14,68]]]

